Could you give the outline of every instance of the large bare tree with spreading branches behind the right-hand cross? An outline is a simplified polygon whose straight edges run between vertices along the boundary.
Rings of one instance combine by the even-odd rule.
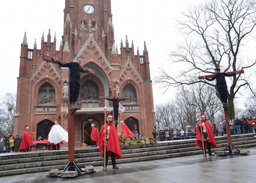
[[[211,0],[194,5],[183,16],[183,20],[178,20],[178,27],[185,41],[180,41],[177,51],[169,54],[172,66],[182,64],[182,69],[168,73],[161,68],[155,78],[165,91],[198,82],[216,88],[214,83],[198,80],[197,76],[214,74],[214,68],[227,72],[246,70],[256,64],[252,58],[245,60],[241,53],[247,44],[255,41],[251,36],[256,26],[255,0]],[[251,87],[245,75],[230,77],[227,83],[228,115],[232,119],[235,95],[243,86]],[[251,92],[254,93],[252,89]]]

